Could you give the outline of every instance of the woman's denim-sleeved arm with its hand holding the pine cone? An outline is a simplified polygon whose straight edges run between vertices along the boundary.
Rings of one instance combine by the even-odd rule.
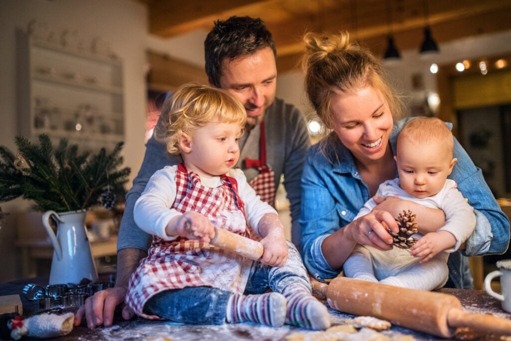
[[[391,243],[391,237],[381,221],[395,231],[397,224],[388,212],[382,211],[351,222],[364,204],[362,195],[353,186],[353,193],[349,193],[350,185],[315,153],[317,149],[310,150],[301,178],[301,254],[308,271],[322,281],[339,274],[356,243],[389,248],[383,240]],[[347,182],[350,181],[351,178]],[[375,233],[368,237],[370,231]]]

